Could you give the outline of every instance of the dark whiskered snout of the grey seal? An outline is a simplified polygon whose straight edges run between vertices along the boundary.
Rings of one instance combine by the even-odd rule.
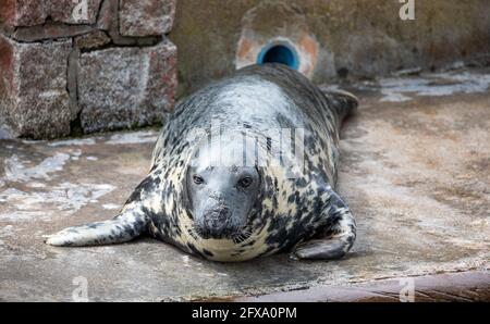
[[[233,233],[232,212],[229,208],[218,208],[204,214],[203,234],[210,238],[222,238]]]

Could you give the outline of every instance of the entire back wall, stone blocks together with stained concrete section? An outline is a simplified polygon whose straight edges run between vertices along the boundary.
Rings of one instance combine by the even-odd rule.
[[[72,0],[0,0],[0,137],[157,124],[175,75],[181,97],[274,43],[316,83],[490,53],[488,0],[415,0],[415,21],[399,0],[83,1],[86,16]]]

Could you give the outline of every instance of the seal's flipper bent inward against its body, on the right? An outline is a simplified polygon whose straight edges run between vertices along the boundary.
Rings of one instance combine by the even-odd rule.
[[[330,189],[323,209],[329,226],[311,240],[296,246],[294,256],[299,259],[332,260],[345,256],[356,239],[356,223],[351,210],[340,196]]]

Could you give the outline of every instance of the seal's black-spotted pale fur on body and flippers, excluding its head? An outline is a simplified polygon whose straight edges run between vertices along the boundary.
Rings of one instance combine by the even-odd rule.
[[[304,76],[274,64],[250,66],[181,101],[158,138],[149,175],[111,221],[66,228],[48,244],[83,246],[127,241],[147,232],[184,251],[216,261],[244,261],[281,251],[301,259],[336,259],[356,237],[354,217],[333,187],[339,127],[357,107],[354,96],[321,92]],[[193,226],[185,174],[196,127],[219,121],[231,132],[264,137],[270,129],[305,129],[305,170],[259,167],[261,191],[238,237],[203,239]],[[258,149],[267,157],[270,142]],[[296,170],[297,171],[297,170]]]

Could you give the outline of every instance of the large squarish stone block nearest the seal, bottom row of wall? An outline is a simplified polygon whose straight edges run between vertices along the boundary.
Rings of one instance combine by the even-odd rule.
[[[176,48],[168,39],[147,48],[81,54],[78,105],[85,133],[146,126],[173,108]]]

